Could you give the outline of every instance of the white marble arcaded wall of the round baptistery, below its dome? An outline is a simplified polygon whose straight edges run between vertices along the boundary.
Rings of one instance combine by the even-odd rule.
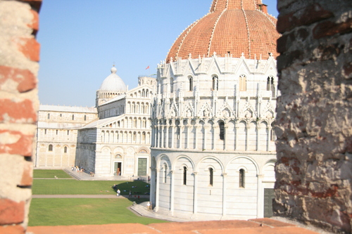
[[[199,219],[263,217],[264,191],[275,182],[276,60],[171,61],[158,65],[157,82],[154,209]]]

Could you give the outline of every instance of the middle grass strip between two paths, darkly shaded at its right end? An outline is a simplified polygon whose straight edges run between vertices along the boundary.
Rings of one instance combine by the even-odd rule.
[[[76,180],[33,180],[33,195],[115,195],[111,188],[117,184],[121,195],[149,193],[148,183],[144,181],[76,181]],[[137,188],[132,188],[137,186]],[[107,192],[106,192],[107,191]]]

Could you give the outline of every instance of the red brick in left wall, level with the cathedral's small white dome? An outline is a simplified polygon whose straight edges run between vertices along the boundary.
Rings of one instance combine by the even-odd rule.
[[[20,93],[30,91],[37,87],[37,79],[30,70],[23,70],[15,67],[0,66],[0,84],[12,79],[18,83],[17,90]]]

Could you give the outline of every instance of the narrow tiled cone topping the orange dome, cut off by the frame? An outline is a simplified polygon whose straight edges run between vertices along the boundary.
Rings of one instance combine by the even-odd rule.
[[[213,4],[210,7],[210,13],[214,11],[244,9],[244,10],[256,10],[258,5],[261,5],[261,0],[213,0]]]

